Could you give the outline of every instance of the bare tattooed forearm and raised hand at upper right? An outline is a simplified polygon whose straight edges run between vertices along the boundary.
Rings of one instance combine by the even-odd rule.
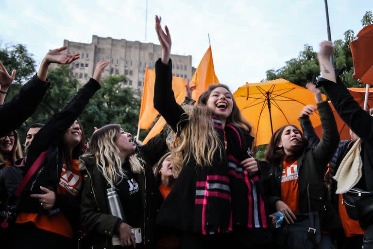
[[[330,55],[332,53],[333,43],[331,41],[323,41],[320,44],[320,51],[317,54],[317,59],[319,60],[322,77],[336,83],[336,74],[332,63],[330,62]]]

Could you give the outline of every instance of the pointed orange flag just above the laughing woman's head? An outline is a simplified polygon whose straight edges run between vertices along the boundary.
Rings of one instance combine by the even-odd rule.
[[[192,77],[189,86],[197,86],[193,91],[192,99],[198,100],[200,95],[212,84],[219,84],[218,77],[215,75],[214,61],[212,60],[211,46],[208,47],[206,53],[198,65],[196,72]]]

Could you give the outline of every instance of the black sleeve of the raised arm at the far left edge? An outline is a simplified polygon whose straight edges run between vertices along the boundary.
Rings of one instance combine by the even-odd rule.
[[[0,117],[6,120],[0,122],[0,138],[17,129],[34,113],[49,86],[48,79],[42,81],[35,74],[11,100],[0,106]]]

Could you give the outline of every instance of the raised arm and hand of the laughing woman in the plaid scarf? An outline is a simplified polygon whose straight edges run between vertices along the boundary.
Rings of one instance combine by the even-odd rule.
[[[185,111],[176,103],[172,90],[171,36],[167,26],[166,33],[162,30],[161,18],[157,16],[155,16],[155,30],[161,43],[162,58],[155,63],[154,108],[176,132]]]

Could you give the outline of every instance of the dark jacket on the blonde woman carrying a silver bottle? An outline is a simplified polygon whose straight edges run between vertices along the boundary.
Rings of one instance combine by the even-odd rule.
[[[144,244],[153,242],[154,223],[163,198],[159,192],[152,166],[168,151],[163,133],[152,138],[147,144],[136,149],[137,156],[144,160],[144,174],[138,174],[137,181],[141,196],[141,234]],[[81,171],[85,180],[80,206],[81,224],[87,233],[92,248],[112,248],[112,236],[118,234],[119,225],[126,222],[109,212],[107,204],[107,181],[96,166],[95,160],[81,157]],[[127,162],[128,163],[128,162]],[[127,203],[122,203],[126,205]],[[131,225],[131,224],[130,224]]]

